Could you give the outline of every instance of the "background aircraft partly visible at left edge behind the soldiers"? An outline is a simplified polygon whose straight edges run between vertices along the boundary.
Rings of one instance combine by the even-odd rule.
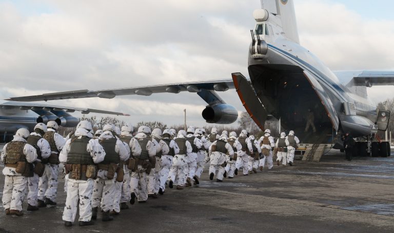
[[[19,128],[28,128],[33,131],[37,123],[56,121],[64,127],[75,127],[78,119],[69,112],[80,111],[83,114],[90,112],[127,115],[121,112],[111,112],[90,108],[65,107],[42,103],[25,103],[15,101],[0,101],[0,142],[12,140],[12,133]]]

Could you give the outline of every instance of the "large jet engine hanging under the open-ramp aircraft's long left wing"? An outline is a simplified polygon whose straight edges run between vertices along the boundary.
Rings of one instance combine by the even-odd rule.
[[[231,124],[238,119],[238,111],[228,104],[209,105],[203,110],[207,123]]]

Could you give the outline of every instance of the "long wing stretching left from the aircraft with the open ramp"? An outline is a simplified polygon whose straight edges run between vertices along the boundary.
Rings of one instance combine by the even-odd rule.
[[[230,88],[231,89],[234,88],[234,84],[232,80],[215,80],[215,81],[204,81],[204,82],[176,83],[176,84],[165,84],[165,85],[144,86],[144,87],[107,89],[107,90],[97,90],[97,91],[91,91],[91,90],[64,91],[64,92],[54,92],[54,93],[46,93],[40,95],[13,97],[8,100],[30,102],[30,101],[81,99],[81,98],[92,98],[92,97],[112,99],[117,95],[137,94],[137,95],[148,96],[151,95],[152,93],[179,93],[181,91],[200,93],[201,90],[207,90],[208,92],[213,93],[213,91],[226,91]],[[203,98],[203,96],[201,97]],[[220,101],[221,100],[219,100],[219,102]],[[207,103],[210,104],[209,101],[207,101]]]

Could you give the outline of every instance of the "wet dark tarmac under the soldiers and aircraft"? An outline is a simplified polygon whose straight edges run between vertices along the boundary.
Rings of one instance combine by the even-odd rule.
[[[0,189],[4,176],[0,175]],[[394,232],[394,156],[344,160],[338,151],[319,163],[264,168],[216,183],[205,170],[200,185],[167,188],[158,199],[135,203],[112,222],[65,227],[64,180],[57,206],[0,211],[0,232]],[[24,208],[27,203],[24,203]]]

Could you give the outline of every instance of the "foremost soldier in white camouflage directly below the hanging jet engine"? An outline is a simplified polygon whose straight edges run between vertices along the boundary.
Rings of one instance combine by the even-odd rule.
[[[226,166],[226,154],[228,154],[230,158],[234,155],[231,145],[227,143],[225,134],[222,134],[219,140],[214,141],[209,146],[208,153],[211,161],[209,166],[209,180],[213,180],[216,169],[218,169],[216,182],[223,182],[223,174],[225,172],[224,168]]]

